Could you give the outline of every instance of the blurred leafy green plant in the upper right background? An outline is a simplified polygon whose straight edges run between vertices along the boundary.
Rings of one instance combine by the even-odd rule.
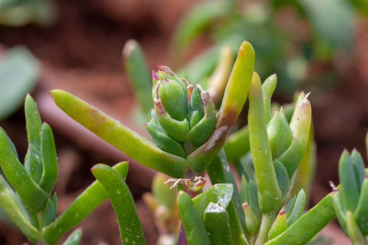
[[[355,1],[363,6],[361,2]],[[347,0],[202,1],[177,27],[174,57],[182,67],[181,76],[205,86],[221,47],[229,45],[235,56],[246,39],[257,53],[255,69],[261,79],[276,72],[279,91],[290,93],[307,79],[310,62],[329,63],[333,55],[350,50],[356,17],[357,11]],[[202,34],[208,34],[213,45],[184,64],[188,50]],[[336,80],[336,72],[325,73],[324,80]]]

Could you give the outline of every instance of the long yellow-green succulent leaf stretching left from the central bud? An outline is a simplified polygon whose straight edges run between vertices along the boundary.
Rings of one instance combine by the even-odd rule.
[[[187,161],[162,151],[146,138],[107,116],[99,109],[63,90],[50,91],[56,105],[72,119],[144,166],[180,178]]]

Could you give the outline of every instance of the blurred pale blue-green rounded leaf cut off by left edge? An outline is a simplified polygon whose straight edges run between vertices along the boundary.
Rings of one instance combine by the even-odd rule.
[[[10,116],[22,105],[39,78],[40,68],[37,58],[23,46],[10,48],[1,57],[0,119]]]

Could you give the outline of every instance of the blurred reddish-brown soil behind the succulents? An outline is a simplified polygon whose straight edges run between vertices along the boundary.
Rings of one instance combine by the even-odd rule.
[[[42,61],[43,75],[32,93],[33,97],[43,98],[47,90],[64,89],[108,115],[128,120],[124,116],[130,115],[134,109],[135,98],[121,64],[125,41],[131,38],[138,40],[151,69],[157,64],[170,66],[173,60],[170,59],[170,36],[192,3],[194,0],[57,0],[59,19],[52,27],[27,25],[15,29],[2,26],[0,43],[5,47],[24,44]],[[330,192],[329,180],[336,184],[339,182],[337,166],[343,148],[351,151],[356,147],[367,163],[364,137],[368,130],[368,21],[361,19],[356,26],[354,57],[344,69],[346,72],[342,82],[334,86],[323,83],[302,85],[305,91],[312,91],[309,99],[318,151],[310,206]],[[192,53],[197,53],[209,43],[207,39],[199,40],[192,47]],[[326,69],[325,66],[316,61],[310,68],[311,74],[316,69]],[[291,100],[280,94],[276,94],[275,98],[279,102]],[[36,101],[39,107],[43,106],[42,99]],[[64,121],[59,118],[53,118],[51,114],[54,109],[50,110],[40,109],[40,114],[52,127],[56,140],[59,178],[54,191],[58,194],[59,215],[95,180],[90,171],[94,164],[112,166],[127,158],[120,158],[118,153],[110,154],[110,149],[105,151],[105,146],[95,141],[92,145],[91,142],[86,144],[88,140],[81,140],[77,131],[68,132],[68,125],[63,125]],[[20,158],[23,158],[27,148],[24,109],[20,108],[13,116],[1,121],[1,127],[7,131]],[[153,174],[152,170],[132,163],[127,176],[147,244],[151,245],[156,243],[158,234],[141,195],[150,191]],[[84,232],[81,244],[121,244],[116,216],[108,200],[93,211],[81,226]],[[0,224],[0,244],[21,244],[25,241],[17,230]]]

